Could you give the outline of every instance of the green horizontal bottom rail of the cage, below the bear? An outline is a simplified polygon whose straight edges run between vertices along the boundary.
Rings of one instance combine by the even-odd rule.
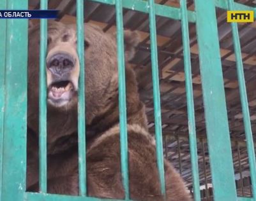
[[[79,197],[71,195],[56,195],[56,194],[47,194],[47,193],[30,193],[26,192],[24,194],[24,200],[26,201],[113,201],[114,199],[103,199],[103,198],[94,198],[94,197]],[[116,200],[115,201],[121,201]],[[129,200],[132,201],[132,200]]]

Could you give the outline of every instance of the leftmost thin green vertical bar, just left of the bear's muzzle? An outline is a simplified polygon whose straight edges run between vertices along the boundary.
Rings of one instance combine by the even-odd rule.
[[[40,9],[47,10],[47,0]],[[47,54],[47,19],[40,20],[40,90],[39,90],[39,190],[47,193],[47,92],[45,59]]]

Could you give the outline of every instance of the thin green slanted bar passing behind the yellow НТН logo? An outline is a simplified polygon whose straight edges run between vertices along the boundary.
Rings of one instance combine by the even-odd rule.
[[[234,10],[234,1],[228,1],[229,10]],[[246,85],[245,85],[245,74],[243,72],[243,60],[241,55],[241,46],[239,41],[239,33],[236,23],[231,23],[232,36],[234,41],[234,50],[236,55],[236,69],[237,69],[237,78],[239,83],[239,93],[243,111],[243,122],[245,125],[245,135],[246,135],[246,145],[248,151],[248,158],[250,164],[250,174],[252,178],[252,191],[253,191],[253,200],[256,201],[256,160],[255,160],[255,150],[253,145],[253,136],[252,136],[252,125],[250,121],[250,111],[248,107],[248,99],[246,94]]]

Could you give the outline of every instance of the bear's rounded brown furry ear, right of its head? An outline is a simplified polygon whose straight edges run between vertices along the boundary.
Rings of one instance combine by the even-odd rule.
[[[124,52],[125,60],[130,61],[135,55],[135,48],[140,42],[140,35],[137,31],[124,31]]]

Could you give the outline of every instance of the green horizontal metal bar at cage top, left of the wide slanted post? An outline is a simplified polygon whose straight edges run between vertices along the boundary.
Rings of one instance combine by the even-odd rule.
[[[114,5],[115,0],[90,0],[103,4]],[[156,15],[161,17],[172,18],[174,20],[181,20],[181,12],[179,8],[175,8],[172,6],[165,6],[160,4],[154,4],[154,9]],[[130,10],[140,11],[142,13],[149,13],[149,4],[147,1],[142,0],[123,0],[123,8],[128,8]],[[195,22],[195,12],[188,10],[188,22]]]

